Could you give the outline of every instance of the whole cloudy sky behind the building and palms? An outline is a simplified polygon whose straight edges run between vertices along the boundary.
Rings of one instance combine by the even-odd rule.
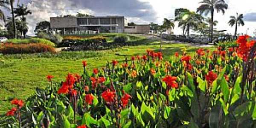
[[[122,15],[128,22],[162,24],[164,18],[174,19],[175,9],[186,8],[196,11],[202,0],[20,0],[32,10],[27,16],[29,35],[34,35],[36,23],[50,20],[59,15],[76,15],[77,12],[96,16]],[[230,16],[244,14],[245,25],[239,26],[238,33],[255,35],[256,31],[256,1],[255,0],[225,0],[228,9],[225,15],[215,12],[218,30],[227,30],[234,34],[235,27],[228,25]],[[5,11],[6,12],[6,11]],[[9,15],[10,12],[6,12]],[[175,23],[175,34],[182,34],[182,30]],[[191,32],[193,33],[193,32]]]

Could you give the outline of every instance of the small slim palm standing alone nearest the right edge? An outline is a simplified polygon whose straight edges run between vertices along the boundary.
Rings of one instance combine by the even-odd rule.
[[[243,18],[244,18],[244,15],[243,15],[243,14],[239,14],[239,15],[238,15],[238,13],[236,13],[236,17],[235,17],[235,16],[230,16],[230,21],[228,22],[229,25],[230,25],[231,27],[233,27],[234,25],[236,25],[236,28],[235,28],[235,35],[234,35],[235,38],[236,38],[236,33],[237,33],[237,27],[240,26],[240,25],[244,26],[244,20],[243,20]]]

